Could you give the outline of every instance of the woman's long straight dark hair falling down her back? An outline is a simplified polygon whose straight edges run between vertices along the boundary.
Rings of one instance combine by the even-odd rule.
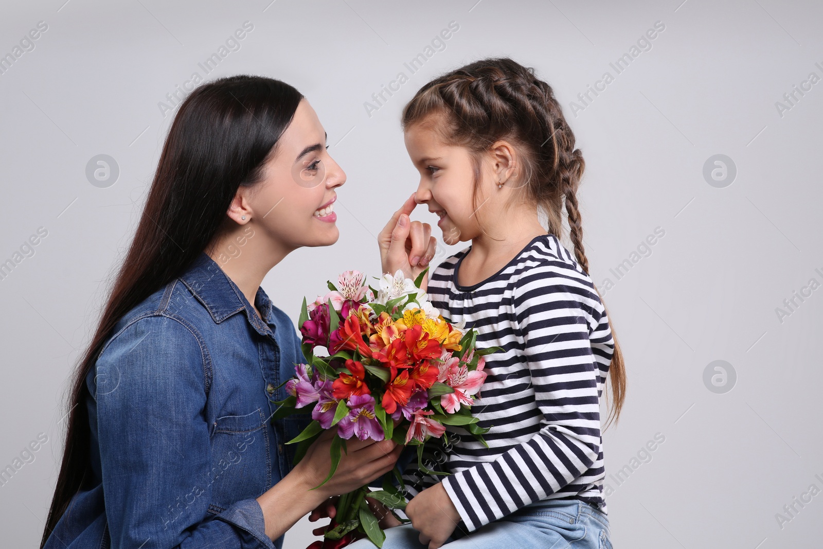
[[[72,378],[63,462],[41,549],[72,496],[91,481],[86,375],[112,329],[207,249],[237,189],[263,179],[265,162],[301,99],[285,82],[239,75],[198,86],[179,106],[132,245]]]

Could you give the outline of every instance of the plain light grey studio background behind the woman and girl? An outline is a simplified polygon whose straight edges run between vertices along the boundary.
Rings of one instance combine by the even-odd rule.
[[[48,230],[0,281],[0,468],[49,437],[0,486],[4,546],[40,539],[66,379],[172,118],[158,103],[193,72],[205,76],[198,63],[250,21],[241,48],[208,77],[251,72],[296,86],[348,176],[338,243],[291,254],[263,282],[278,306],[296,319],[302,296],[337,272],[379,274],[374,235],[416,188],[398,117],[418,87],[491,55],[536,67],[584,152],[592,277],[602,289],[606,278],[614,284],[604,301],[629,383],[621,422],[605,435],[615,546],[820,547],[823,494],[796,513],[783,505],[811,485],[823,490],[823,289],[795,298],[792,310],[783,300],[811,278],[823,283],[823,83],[795,92],[782,115],[776,105],[789,106],[783,94],[811,72],[823,77],[820,2],[64,2],[4,0],[0,17],[3,55],[39,21],[48,25],[0,75],[0,262]],[[412,75],[403,63],[449,21],[459,30]],[[665,30],[617,74],[610,63],[656,21]],[[409,81],[367,114],[364,102],[398,72]],[[614,80],[573,113],[604,72]],[[108,188],[86,179],[99,154],[119,165]],[[723,188],[703,174],[717,154],[737,168]],[[413,218],[436,221],[425,208]],[[665,235],[651,254],[632,256],[657,227]],[[439,258],[462,248],[441,246]],[[610,269],[625,259],[630,270],[617,280]],[[779,307],[791,314],[779,318]],[[704,384],[718,360],[737,374],[726,393]],[[649,461],[642,450],[658,433],[665,441]],[[638,453],[648,463],[632,461]],[[611,475],[625,466],[618,484]],[[311,526],[298,523],[286,547],[303,549]]]

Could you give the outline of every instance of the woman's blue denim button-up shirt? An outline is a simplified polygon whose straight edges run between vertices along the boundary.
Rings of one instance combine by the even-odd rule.
[[[91,470],[45,547],[277,547],[259,495],[311,421],[270,421],[305,361],[262,288],[263,322],[207,254],[128,312],[86,378]]]

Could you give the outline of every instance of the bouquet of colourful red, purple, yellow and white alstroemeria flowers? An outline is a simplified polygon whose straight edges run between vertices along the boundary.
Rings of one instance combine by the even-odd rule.
[[[352,436],[416,445],[418,467],[427,474],[448,474],[422,463],[426,440],[448,442],[447,425],[463,426],[488,446],[482,435],[489,429],[477,425],[471,406],[486,379],[485,356],[500,347],[475,349],[477,332],[444,319],[420,290],[424,276],[425,271],[412,281],[402,271],[386,274],[375,289],[366,285],[364,274],[346,271],[337,286],[328,282],[328,294],[309,305],[303,300],[299,326],[309,364],[295,365],[295,377],[284,382],[289,396],[277,401],[273,417],[311,412],[309,426],[286,443],[298,444],[295,464],[323,430],[337,426],[331,470],[314,488],[332,477]],[[315,355],[319,348],[328,356]],[[393,477],[405,489],[395,467],[383,478],[382,490],[362,486],[341,495],[324,538],[343,547],[365,535],[383,547],[385,534],[365,496],[408,522],[394,512],[405,509],[406,501]]]

